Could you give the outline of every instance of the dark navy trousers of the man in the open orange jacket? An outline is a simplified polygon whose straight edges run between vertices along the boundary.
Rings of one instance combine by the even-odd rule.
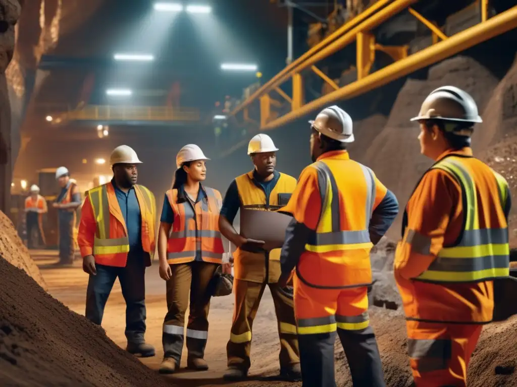
[[[143,255],[143,254],[142,254]],[[104,307],[118,277],[126,301],[126,337],[128,342],[144,343],[145,334],[145,260],[128,256],[126,267],[96,264],[97,275],[88,280],[86,318],[101,325]]]

